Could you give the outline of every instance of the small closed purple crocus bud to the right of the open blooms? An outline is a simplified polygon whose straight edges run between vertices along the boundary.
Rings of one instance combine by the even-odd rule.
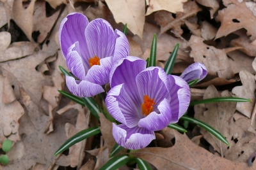
[[[206,75],[207,69],[204,64],[200,62],[195,62],[188,66],[180,75],[180,77],[183,78],[185,81],[189,82],[196,79],[199,79],[198,81],[203,80]]]

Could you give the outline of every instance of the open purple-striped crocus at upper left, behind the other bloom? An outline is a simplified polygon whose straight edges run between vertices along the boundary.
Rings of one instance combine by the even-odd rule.
[[[129,43],[122,32],[114,32],[103,19],[89,23],[81,13],[70,13],[62,20],[59,40],[68,69],[79,78],[66,76],[67,87],[79,97],[104,92],[102,85],[109,82],[112,62],[129,54]]]

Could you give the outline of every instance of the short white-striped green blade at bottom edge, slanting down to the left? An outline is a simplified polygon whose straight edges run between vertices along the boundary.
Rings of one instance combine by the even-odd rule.
[[[99,170],[116,170],[121,166],[124,166],[129,161],[129,157],[127,155],[120,155],[118,157],[113,157],[109,159],[109,161],[102,166]]]

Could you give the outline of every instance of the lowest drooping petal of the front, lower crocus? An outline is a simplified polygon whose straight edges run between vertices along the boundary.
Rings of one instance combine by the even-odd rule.
[[[124,124],[113,124],[113,137],[118,145],[129,150],[145,148],[153,139],[156,139],[153,131],[138,126],[129,128]]]

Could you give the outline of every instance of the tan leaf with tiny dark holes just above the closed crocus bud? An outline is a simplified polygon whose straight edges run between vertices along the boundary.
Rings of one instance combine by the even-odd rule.
[[[208,74],[227,80],[233,78],[234,73],[228,62],[225,50],[219,50],[214,46],[205,45],[203,41],[203,38],[191,36],[189,39],[192,49],[190,56],[195,59],[195,62],[203,63],[207,68]]]

